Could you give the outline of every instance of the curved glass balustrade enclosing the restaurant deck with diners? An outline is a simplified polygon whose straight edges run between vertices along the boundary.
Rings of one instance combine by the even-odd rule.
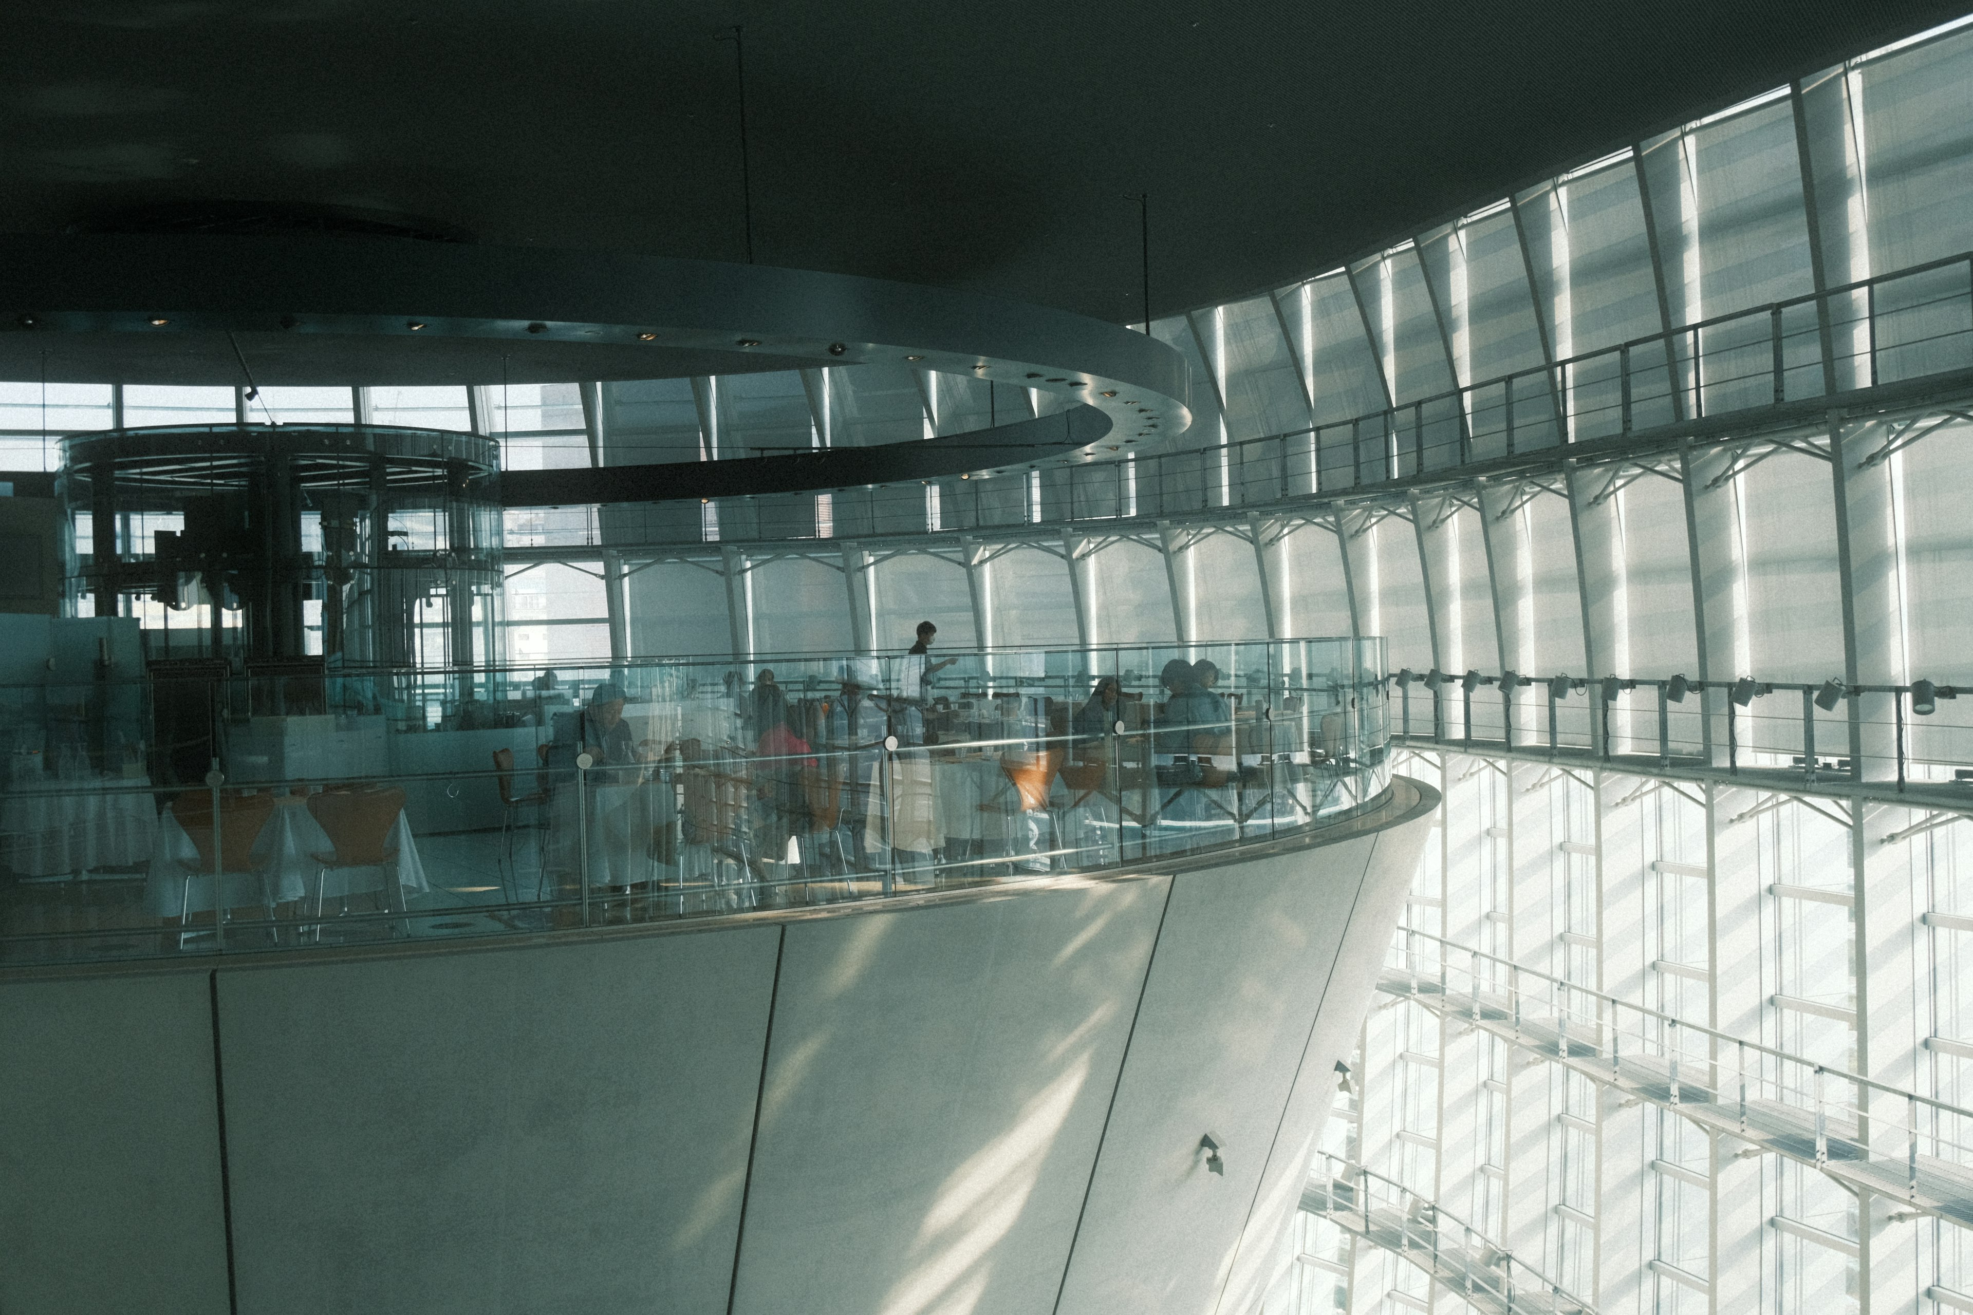
[[[803,911],[1361,814],[1379,641],[10,690],[0,962]],[[217,917],[215,917],[217,907]]]

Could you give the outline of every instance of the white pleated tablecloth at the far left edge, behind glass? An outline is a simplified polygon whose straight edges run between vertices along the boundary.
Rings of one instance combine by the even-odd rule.
[[[112,787],[132,787],[120,793]],[[158,830],[148,781],[95,777],[32,783],[0,796],[0,865],[24,877],[59,877],[144,862]],[[47,793],[53,791],[53,793]]]

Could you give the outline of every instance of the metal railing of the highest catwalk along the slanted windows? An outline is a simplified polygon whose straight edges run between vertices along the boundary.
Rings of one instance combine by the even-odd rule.
[[[1900,280],[1961,268],[1963,288],[1934,294],[1920,286],[1910,298],[1884,296]],[[1344,420],[1170,450],[1148,446],[1156,442],[1156,430],[1113,434],[1111,451],[1121,453],[1113,459],[1020,461],[973,471],[971,483],[945,485],[939,526],[910,532],[1290,505],[1426,475],[1456,477],[1472,463],[1525,459],[1576,444],[1644,434],[1669,442],[1693,432],[1693,426],[1722,416],[1756,416],[1766,408],[1791,408],[1776,414],[1799,420],[1797,412],[1821,398],[1880,384],[1900,384],[1910,392],[1908,384],[1924,379],[1955,379],[1959,386],[1959,377],[1973,371],[1973,327],[1963,327],[1967,315],[1957,313],[1953,323],[1934,331],[1930,319],[1939,317],[1941,306],[1973,306],[1973,252],[1711,315]],[[1941,353],[1951,353],[1951,359]],[[1817,412],[1815,420],[1825,422],[1827,416]],[[1140,442],[1146,444],[1142,451],[1131,448]],[[1026,483],[1014,497],[1006,479],[994,479],[1014,475],[1026,481],[1036,467],[1046,491],[1042,511],[1030,505]],[[876,499],[874,487],[835,489],[827,528],[811,501],[714,499],[728,507],[716,538],[809,540],[906,532],[884,526],[886,513]],[[698,532],[702,536],[702,528]],[[693,542],[683,522],[667,520],[645,522],[643,528],[623,522],[616,536],[620,544]],[[560,532],[547,538],[550,542],[543,548],[582,546],[554,544],[554,538],[564,538]]]

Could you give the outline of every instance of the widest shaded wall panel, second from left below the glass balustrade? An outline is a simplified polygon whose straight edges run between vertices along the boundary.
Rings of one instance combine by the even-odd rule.
[[[223,972],[241,1315],[724,1311],[777,940]]]

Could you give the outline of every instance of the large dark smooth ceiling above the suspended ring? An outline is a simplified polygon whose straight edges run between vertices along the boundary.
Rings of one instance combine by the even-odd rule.
[[[1959,14],[1888,0],[49,0],[0,43],[0,229],[333,205],[1140,319],[1330,268]],[[180,211],[182,213],[182,211]]]

